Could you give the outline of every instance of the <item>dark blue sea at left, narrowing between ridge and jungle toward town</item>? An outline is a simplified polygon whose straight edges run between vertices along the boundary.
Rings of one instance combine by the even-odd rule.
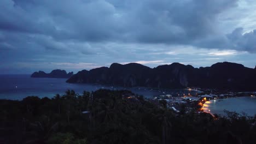
[[[133,93],[144,95],[146,98],[152,98],[156,95],[171,94],[177,96],[178,94],[192,94],[195,91],[188,91],[187,89],[153,89],[153,88],[124,88],[103,85],[91,84],[77,84],[66,83],[67,79],[53,79],[53,78],[31,78],[30,75],[0,75],[0,99],[21,100],[30,95],[36,95],[40,98],[54,97],[55,94],[64,94],[67,89],[73,89],[76,93],[82,94],[83,91],[96,91],[100,88],[107,89],[129,89]]]

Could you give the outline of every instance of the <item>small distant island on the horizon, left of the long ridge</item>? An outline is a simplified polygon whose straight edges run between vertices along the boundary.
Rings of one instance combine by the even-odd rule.
[[[73,72],[67,74],[66,70],[55,69],[47,74],[44,71],[34,72],[31,77],[49,77],[49,78],[70,78]]]

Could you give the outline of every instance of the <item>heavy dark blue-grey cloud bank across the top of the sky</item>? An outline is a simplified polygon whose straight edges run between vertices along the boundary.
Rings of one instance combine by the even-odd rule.
[[[82,41],[191,44],[216,34],[228,1],[7,1],[0,29]]]

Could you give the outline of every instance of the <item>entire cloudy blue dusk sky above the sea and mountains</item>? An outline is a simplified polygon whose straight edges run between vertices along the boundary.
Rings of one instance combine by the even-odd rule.
[[[254,0],[1,0],[0,74],[256,65]]]

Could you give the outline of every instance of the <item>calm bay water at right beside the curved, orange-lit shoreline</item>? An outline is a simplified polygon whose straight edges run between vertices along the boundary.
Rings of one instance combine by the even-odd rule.
[[[256,115],[256,97],[239,97],[221,100],[211,100],[207,109],[211,113],[225,115],[224,110],[245,112],[248,116]]]

